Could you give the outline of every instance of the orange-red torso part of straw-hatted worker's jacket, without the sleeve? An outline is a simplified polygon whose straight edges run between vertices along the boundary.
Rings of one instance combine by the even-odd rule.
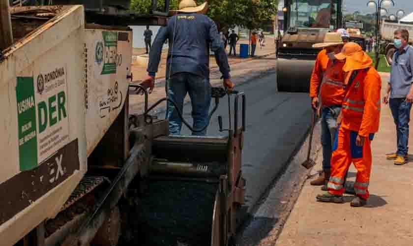
[[[343,103],[344,93],[346,92],[346,86],[344,84],[346,73],[343,71],[344,64],[344,62],[337,60],[329,60],[320,88],[322,106],[341,106]]]

